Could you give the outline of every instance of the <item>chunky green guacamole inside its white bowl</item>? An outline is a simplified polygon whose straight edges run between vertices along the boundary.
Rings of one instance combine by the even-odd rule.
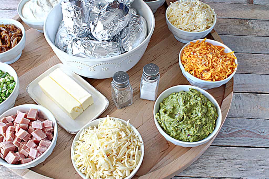
[[[207,97],[190,88],[188,92],[172,93],[164,98],[155,117],[169,136],[195,142],[213,132],[218,113]]]

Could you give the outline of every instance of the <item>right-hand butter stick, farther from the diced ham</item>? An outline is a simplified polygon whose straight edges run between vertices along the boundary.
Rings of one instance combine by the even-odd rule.
[[[66,75],[60,68],[51,72],[49,77],[75,98],[82,105],[83,111],[85,111],[89,105],[93,104],[93,97],[91,94]]]

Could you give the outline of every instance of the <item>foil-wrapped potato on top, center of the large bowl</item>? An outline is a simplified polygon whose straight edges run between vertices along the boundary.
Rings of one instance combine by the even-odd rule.
[[[118,1],[105,5],[90,24],[91,34],[98,41],[111,40],[125,28],[130,19],[129,8]]]

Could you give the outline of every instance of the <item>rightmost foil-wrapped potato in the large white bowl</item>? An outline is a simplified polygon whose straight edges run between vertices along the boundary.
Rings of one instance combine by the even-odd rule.
[[[137,47],[147,36],[147,22],[144,17],[132,14],[130,23],[124,28],[118,37],[121,53],[128,52]]]

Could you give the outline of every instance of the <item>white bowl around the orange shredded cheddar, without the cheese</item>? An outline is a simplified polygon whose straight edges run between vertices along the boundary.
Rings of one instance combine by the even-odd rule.
[[[199,41],[203,41],[204,39],[197,39],[197,40],[199,40]],[[194,41],[192,41],[192,42],[196,42],[197,40],[194,40]],[[229,52],[232,52],[232,50],[229,48],[229,47],[227,47],[226,45],[224,45],[223,43],[220,43],[220,42],[218,42],[218,41],[214,41],[214,40],[210,40],[210,39],[206,39],[206,42],[209,42],[209,43],[211,43],[212,45],[218,45],[218,46],[222,46],[222,47],[224,47],[225,48],[225,50],[224,50],[224,52],[225,53],[229,53]],[[235,68],[235,71],[230,75],[230,76],[228,76],[228,78],[226,78],[226,79],[223,79],[223,80],[220,80],[220,81],[205,81],[205,80],[202,80],[202,79],[199,79],[199,78],[196,78],[195,76],[193,76],[193,75],[191,75],[189,72],[187,72],[187,71],[185,71],[185,69],[184,69],[184,67],[183,67],[183,65],[182,65],[182,63],[181,63],[181,54],[183,53],[183,49],[186,47],[186,46],[188,46],[188,45],[190,45],[190,42],[189,43],[187,43],[186,45],[184,45],[183,47],[182,47],[182,49],[180,50],[180,52],[179,52],[179,67],[180,67],[180,69],[181,69],[181,71],[182,71],[182,74],[185,76],[185,78],[190,82],[190,84],[192,84],[193,86],[198,86],[198,87],[200,87],[200,88],[202,88],[202,89],[205,89],[205,90],[207,90],[207,89],[211,89],[211,88],[217,88],[217,87],[220,87],[221,85],[224,85],[224,84],[226,84],[232,77],[233,77],[233,75],[235,74],[235,72],[236,72],[236,70],[237,70],[237,67]],[[233,55],[235,55],[235,54],[233,54]],[[237,60],[235,59],[235,64],[237,64]]]

